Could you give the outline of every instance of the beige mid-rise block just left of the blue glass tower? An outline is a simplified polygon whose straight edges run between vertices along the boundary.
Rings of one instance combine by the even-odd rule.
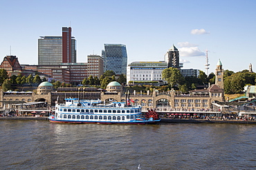
[[[98,76],[100,78],[103,75],[103,59],[98,55],[87,56],[87,74],[88,76]]]

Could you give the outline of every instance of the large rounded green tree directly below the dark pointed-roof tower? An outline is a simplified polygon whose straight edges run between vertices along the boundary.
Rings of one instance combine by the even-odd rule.
[[[168,84],[171,85],[171,87],[179,85],[184,81],[184,77],[182,76],[181,72],[174,67],[163,70],[162,77],[165,81],[168,82]]]

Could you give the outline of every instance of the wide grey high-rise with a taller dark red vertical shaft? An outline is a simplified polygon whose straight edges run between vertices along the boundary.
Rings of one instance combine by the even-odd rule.
[[[62,28],[62,36],[40,36],[38,39],[38,65],[76,63],[76,40],[71,28]]]

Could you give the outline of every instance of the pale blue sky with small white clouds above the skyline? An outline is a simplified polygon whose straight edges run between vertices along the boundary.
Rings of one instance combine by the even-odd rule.
[[[175,45],[183,69],[256,70],[255,0],[1,0],[0,57],[37,65],[39,36],[72,28],[77,63],[101,55],[104,43],[125,44],[128,63],[163,61]],[[1,58],[0,58],[1,59]],[[254,70],[255,66],[255,70]]]

